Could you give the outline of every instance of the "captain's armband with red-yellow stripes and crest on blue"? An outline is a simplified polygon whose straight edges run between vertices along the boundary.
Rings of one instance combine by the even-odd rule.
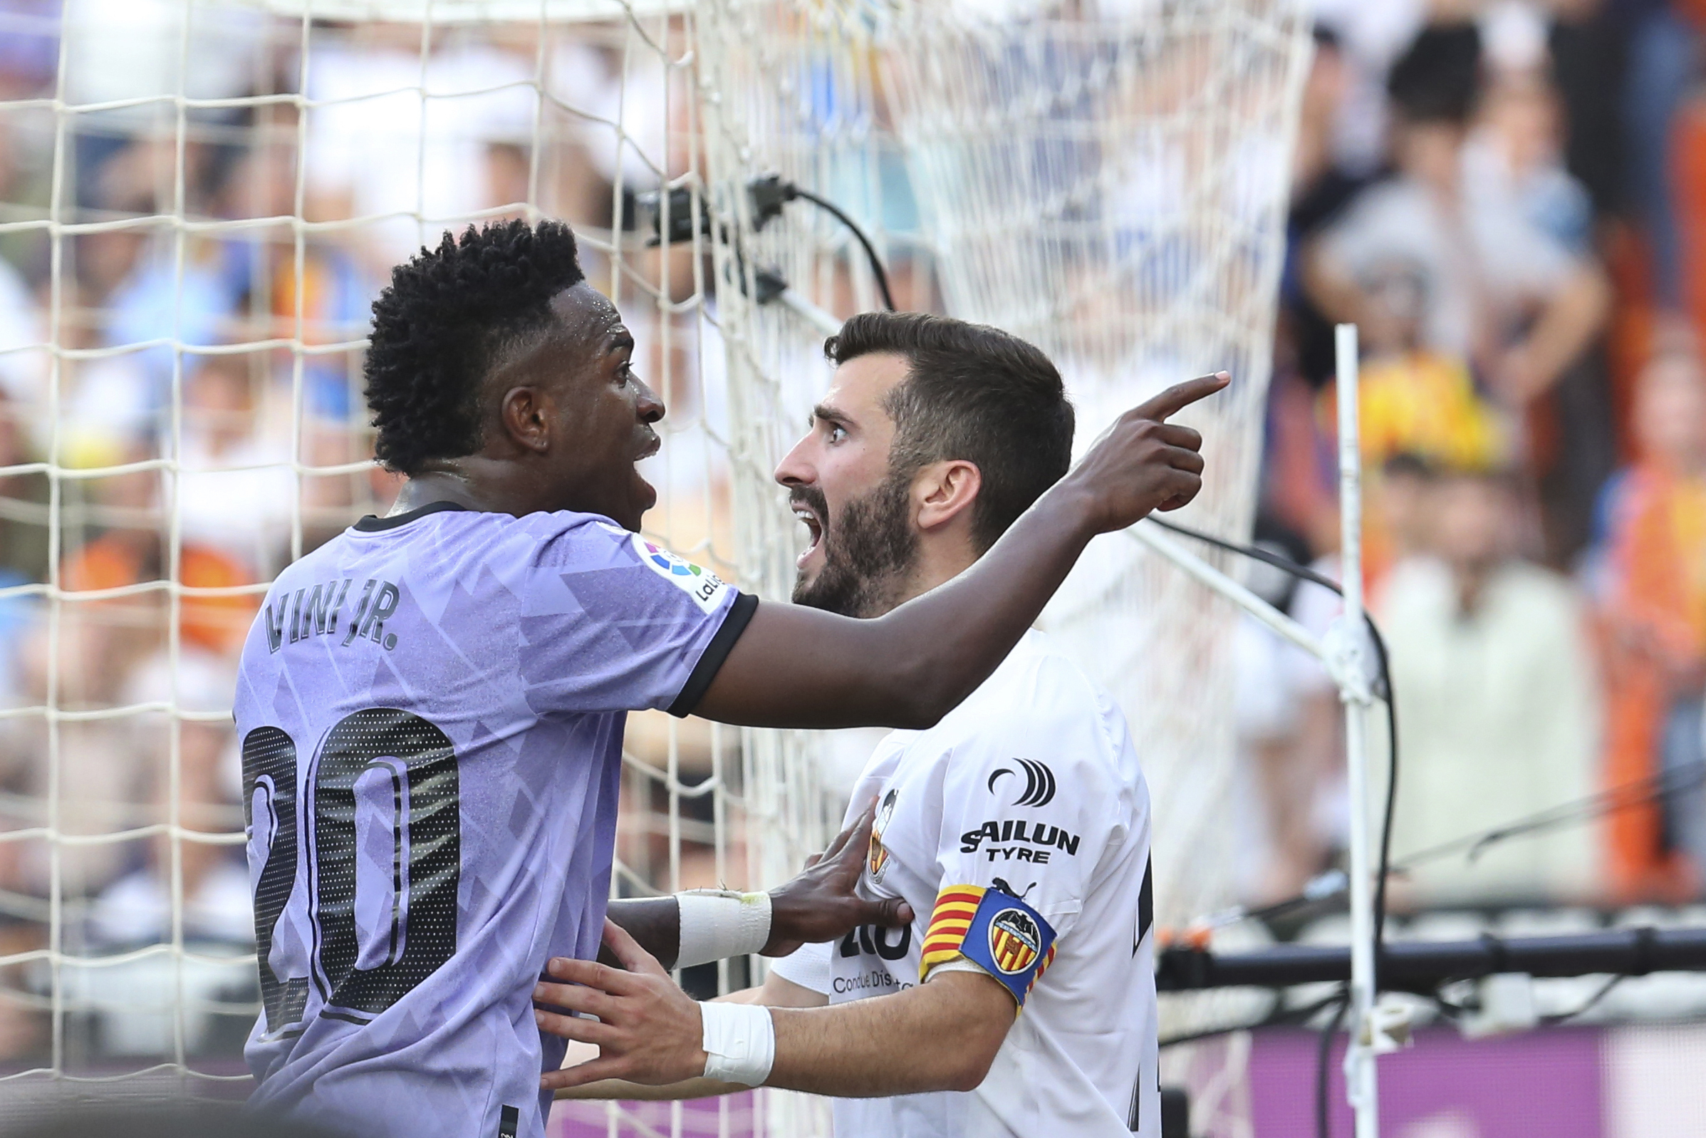
[[[1054,930],[1010,892],[949,885],[937,894],[930,914],[920,979],[938,964],[959,959],[995,976],[1018,1007],[1025,1007],[1025,996],[1054,962]]]

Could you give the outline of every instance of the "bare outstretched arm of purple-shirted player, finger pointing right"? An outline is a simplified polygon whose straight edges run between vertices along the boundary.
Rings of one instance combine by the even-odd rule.
[[[1030,628],[1095,534],[1175,510],[1203,486],[1203,437],[1167,418],[1225,372],[1126,411],[974,566],[870,621],[761,604],[696,715],[752,727],[928,727]]]

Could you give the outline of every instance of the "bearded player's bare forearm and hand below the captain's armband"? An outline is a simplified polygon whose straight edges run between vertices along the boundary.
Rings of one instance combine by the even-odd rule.
[[[737,1089],[699,1078],[705,1071],[699,1005],[681,991],[621,930],[606,942],[628,971],[589,961],[553,961],[534,1000],[597,1020],[536,1012],[556,1036],[590,1042],[599,1058],[548,1071],[539,1085],[570,1089],[601,1080],[691,1090]],[[826,1008],[771,1008],[776,1058],[766,1087],[838,1097],[879,1097],[926,1090],[971,1090],[989,1073],[1013,1025],[1013,996],[991,976],[955,971],[891,996]]]

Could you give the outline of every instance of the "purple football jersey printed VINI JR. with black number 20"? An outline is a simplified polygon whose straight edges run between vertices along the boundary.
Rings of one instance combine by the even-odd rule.
[[[597,952],[630,710],[686,715],[756,601],[607,519],[433,503],[280,575],[242,648],[251,1106],[537,1138],[532,986]]]

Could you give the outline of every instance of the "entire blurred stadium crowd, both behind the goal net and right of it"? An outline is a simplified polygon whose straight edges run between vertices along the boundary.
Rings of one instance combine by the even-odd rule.
[[[125,101],[176,67],[179,5],[67,3],[107,29],[68,44],[87,89],[67,101]],[[1416,860],[1397,896],[1696,899],[1706,892],[1706,3],[1315,7],[1257,537],[1338,572],[1331,329],[1356,321],[1365,577],[1392,648],[1404,759],[1397,862],[1592,800],[1588,817],[1474,860],[1460,850]],[[188,94],[302,87],[297,32],[237,12],[198,31],[205,58],[183,68]],[[0,99],[53,94],[58,29],[56,0],[0,0]],[[61,242],[58,275],[41,229],[0,229],[0,587],[55,578],[90,592],[58,619],[36,595],[0,595],[0,708],[176,701],[205,713],[176,732],[159,711],[73,715],[51,729],[39,715],[0,718],[0,826],[48,824],[53,780],[61,833],[143,831],[56,853],[41,839],[0,841],[0,955],[44,947],[55,882],[72,901],[67,950],[171,940],[174,889],[186,942],[247,950],[241,848],[184,841],[172,855],[145,827],[176,817],[241,829],[235,740],[218,713],[254,611],[256,590],[242,587],[300,553],[297,519],[312,548],[389,503],[391,479],[363,466],[370,442],[351,430],[353,341],[387,268],[432,237],[413,215],[500,217],[531,200],[607,235],[619,186],[655,184],[653,162],[684,167],[660,135],[665,114],[689,104],[672,94],[679,77],[624,60],[595,32],[553,34],[539,44],[531,29],[478,41],[447,31],[423,67],[418,29],[328,24],[314,32],[305,92],[339,102],[310,111],[305,131],[287,101],[196,111],[181,157],[164,104],[75,116],[68,169],[53,162],[51,109],[0,113],[0,224],[46,217],[61,177],[78,220],[96,224]],[[536,73],[551,96],[539,155],[529,154]],[[428,111],[413,92],[380,94],[423,77],[466,94]],[[177,239],[162,224],[174,212],[309,225]],[[338,225],[351,218],[377,220]],[[609,280],[602,254],[587,256],[589,278]],[[691,295],[691,261],[645,271],[674,282],[669,300]],[[909,270],[896,276],[911,292]],[[916,304],[928,305],[918,276]],[[670,420],[720,415],[688,360],[699,351],[713,375],[717,353],[696,322],[664,328],[655,305],[624,314],[648,375],[669,377]],[[56,365],[31,348],[49,324],[67,350]],[[309,351],[281,346],[292,338]],[[188,350],[174,357],[169,340]],[[222,351],[256,343],[270,346]],[[171,454],[183,464],[176,485],[150,466]],[[56,493],[31,466],[46,461],[70,471]],[[78,474],[107,467],[119,469]],[[676,462],[665,498],[711,496],[694,481],[703,467]],[[208,592],[174,597],[148,587],[159,580]],[[1305,624],[1334,616],[1319,587],[1257,584]],[[1237,821],[1252,834],[1252,899],[1293,896],[1339,853],[1336,708],[1317,665],[1254,624],[1240,630]],[[631,737],[641,751],[667,746],[648,722]],[[710,734],[684,739],[681,761],[708,764]],[[638,790],[662,793],[650,781]],[[693,816],[698,800],[682,809],[689,831],[710,821]],[[711,882],[689,868],[682,884]],[[39,990],[26,969],[12,973],[7,988]],[[203,998],[227,998],[232,983],[217,973]],[[43,1046],[43,1022],[27,1003],[0,1002],[0,1061]]]

